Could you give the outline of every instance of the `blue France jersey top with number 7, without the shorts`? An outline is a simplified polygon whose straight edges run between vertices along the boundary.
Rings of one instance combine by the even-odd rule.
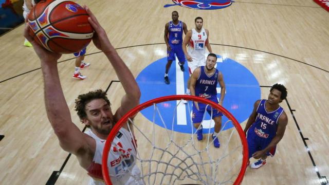
[[[217,101],[217,82],[220,71],[215,68],[215,72],[208,76],[205,66],[200,66],[200,75],[195,84],[195,96]]]

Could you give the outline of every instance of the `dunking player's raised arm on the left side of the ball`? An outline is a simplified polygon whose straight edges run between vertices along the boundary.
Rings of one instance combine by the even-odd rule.
[[[36,43],[29,35],[28,24],[25,27],[24,36],[33,45],[33,49],[41,61],[45,106],[54,133],[65,151],[77,154],[78,151],[81,151],[80,149],[86,148],[88,142],[85,140],[85,134],[72,123],[63,95],[57,69],[57,60],[61,54],[50,52]]]

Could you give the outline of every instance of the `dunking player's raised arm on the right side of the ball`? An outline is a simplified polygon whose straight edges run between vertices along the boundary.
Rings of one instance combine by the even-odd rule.
[[[111,42],[109,42],[105,30],[98,23],[95,15],[88,7],[85,7],[85,9],[90,16],[88,21],[95,29],[93,42],[98,49],[104,52],[109,62],[111,62],[125,91],[125,95],[121,100],[121,106],[115,114],[115,118],[118,120],[130,109],[139,104],[140,90],[132,72],[122,61]]]

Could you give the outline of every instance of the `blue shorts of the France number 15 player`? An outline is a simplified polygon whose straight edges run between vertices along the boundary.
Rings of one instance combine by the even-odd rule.
[[[261,138],[254,132],[255,127],[250,126],[247,132],[247,142],[248,142],[248,153],[249,159],[252,157],[252,154],[264,150],[273,138]],[[276,154],[277,146],[272,147],[272,149],[266,153],[267,156],[274,156]]]

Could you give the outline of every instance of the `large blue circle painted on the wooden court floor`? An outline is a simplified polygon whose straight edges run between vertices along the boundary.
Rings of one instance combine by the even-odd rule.
[[[222,58],[217,55],[216,68],[223,73],[224,82],[226,84],[226,95],[224,98],[223,107],[225,107],[239,122],[242,123],[248,119],[252,112],[253,104],[261,97],[261,89],[254,75],[240,63],[229,59]],[[159,98],[169,95],[177,95],[179,89],[186,89],[189,79],[188,66],[185,63],[185,72],[180,71],[176,61],[173,61],[169,70],[170,84],[164,82],[164,74],[167,64],[167,58],[159,59],[149,66],[145,67],[136,78],[136,81],[141,90],[140,102],[145,102],[154,98]],[[219,88],[219,84],[218,87]],[[184,90],[180,94],[184,94]],[[217,90],[217,97],[220,98],[220,90]],[[163,102],[157,105],[160,115],[154,112],[154,107],[149,107],[141,111],[142,115],[154,122],[155,124],[180,133],[191,133],[191,118],[189,110],[192,110],[191,104],[182,112],[178,113],[176,109],[176,101]],[[190,106],[190,107],[188,107]],[[186,117],[186,121],[181,121],[181,117]],[[184,119],[183,119],[184,120]],[[213,132],[213,124],[211,124],[210,116],[206,113],[205,121],[209,121],[209,127],[204,126],[204,133]],[[222,126],[228,119],[223,116]],[[223,130],[233,127],[231,122],[228,122]],[[194,132],[194,131],[193,131]]]

